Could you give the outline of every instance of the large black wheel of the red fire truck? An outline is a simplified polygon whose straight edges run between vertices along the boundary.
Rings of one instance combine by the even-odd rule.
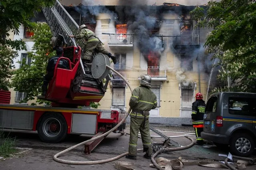
[[[59,113],[44,114],[37,127],[38,136],[43,142],[57,143],[67,136],[67,122]]]

